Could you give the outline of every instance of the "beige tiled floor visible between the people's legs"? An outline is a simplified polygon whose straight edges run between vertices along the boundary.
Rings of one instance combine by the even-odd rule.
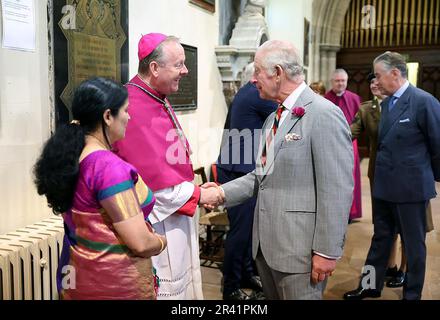
[[[365,159],[361,163],[363,218],[348,226],[344,256],[338,262],[324,293],[324,298],[327,300],[342,299],[344,292],[356,288],[359,273],[370,246],[373,226],[371,223],[370,188],[366,176],[367,166],[368,159]],[[437,183],[437,193],[440,194],[439,183]],[[440,198],[433,199],[431,205],[435,230],[427,235],[427,271],[422,299],[440,300]],[[217,300],[222,298],[220,292],[221,276],[218,269],[202,267],[205,299]],[[380,299],[397,300],[401,297],[401,288],[390,289],[385,287]]]

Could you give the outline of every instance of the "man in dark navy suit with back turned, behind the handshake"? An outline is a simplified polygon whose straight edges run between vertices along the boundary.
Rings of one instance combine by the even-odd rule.
[[[253,63],[245,74],[253,74]],[[237,92],[229,111],[228,135],[217,161],[218,182],[226,183],[255,169],[255,156],[260,131],[266,118],[276,110],[273,101],[261,99],[250,82]],[[228,208],[229,231],[226,237],[223,263],[223,299],[246,300],[240,287],[262,291],[252,259],[252,222],[256,197]]]

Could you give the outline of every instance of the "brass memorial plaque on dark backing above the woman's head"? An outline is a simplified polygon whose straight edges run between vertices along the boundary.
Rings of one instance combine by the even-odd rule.
[[[71,119],[75,88],[100,76],[128,80],[128,1],[55,0],[56,123]]]

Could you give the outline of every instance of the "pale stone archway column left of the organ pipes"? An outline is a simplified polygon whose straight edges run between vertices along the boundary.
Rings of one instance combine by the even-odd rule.
[[[326,87],[336,68],[336,53],[341,48],[344,18],[351,0],[314,0],[312,5],[312,81],[322,80]]]

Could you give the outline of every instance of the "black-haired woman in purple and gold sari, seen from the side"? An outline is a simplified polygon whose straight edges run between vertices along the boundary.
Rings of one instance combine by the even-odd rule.
[[[35,183],[64,220],[57,274],[62,299],[156,299],[151,256],[166,247],[148,222],[155,198],[136,169],[111,151],[130,119],[126,89],[83,82],[74,120],[47,141]]]

